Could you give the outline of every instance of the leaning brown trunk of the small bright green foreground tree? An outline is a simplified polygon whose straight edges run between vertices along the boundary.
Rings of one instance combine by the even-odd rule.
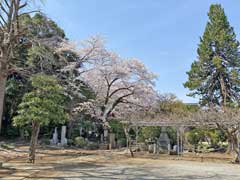
[[[39,130],[40,130],[40,124],[37,122],[33,122],[32,135],[31,135],[31,141],[29,146],[29,157],[28,157],[29,163],[35,162],[35,152],[36,152]]]

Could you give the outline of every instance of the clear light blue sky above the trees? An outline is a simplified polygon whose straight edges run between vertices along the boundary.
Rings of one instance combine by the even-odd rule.
[[[68,38],[100,34],[110,50],[138,58],[159,74],[159,92],[196,102],[182,84],[197,57],[212,3],[222,4],[240,38],[240,0],[46,0],[41,9]]]

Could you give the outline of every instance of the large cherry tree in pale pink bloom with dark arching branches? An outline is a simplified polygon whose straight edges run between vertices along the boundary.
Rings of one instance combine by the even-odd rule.
[[[149,108],[156,100],[156,74],[139,60],[124,59],[104,47],[95,51],[80,74],[79,79],[94,91],[95,99],[80,103],[75,110],[87,111],[105,127],[111,118]]]

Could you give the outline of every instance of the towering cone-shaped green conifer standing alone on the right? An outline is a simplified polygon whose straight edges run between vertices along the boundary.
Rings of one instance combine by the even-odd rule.
[[[240,97],[239,42],[221,5],[211,5],[208,16],[198,59],[187,72],[184,86],[202,105],[236,105]]]

